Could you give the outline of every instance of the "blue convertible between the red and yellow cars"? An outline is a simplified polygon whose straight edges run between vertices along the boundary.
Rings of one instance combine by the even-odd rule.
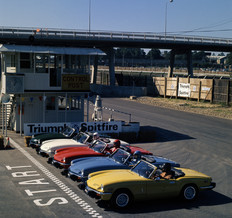
[[[171,163],[174,167],[180,166],[180,164],[164,157],[143,155],[140,151],[135,151],[134,154],[131,154],[119,148],[108,157],[86,157],[73,160],[68,169],[68,176],[74,181],[85,182],[90,173],[101,170],[130,169],[140,159],[147,160],[156,166],[164,163]]]

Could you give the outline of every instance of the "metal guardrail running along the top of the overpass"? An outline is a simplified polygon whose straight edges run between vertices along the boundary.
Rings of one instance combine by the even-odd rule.
[[[140,32],[106,32],[106,31],[84,31],[84,30],[65,30],[53,28],[18,28],[18,27],[0,27],[0,37],[6,34],[12,36],[20,35],[39,35],[41,37],[86,37],[98,39],[122,39],[122,40],[164,40],[176,42],[195,42],[195,43],[211,43],[211,44],[232,44],[232,39],[201,37],[201,36],[183,36],[183,35],[162,35],[156,33],[140,33]]]

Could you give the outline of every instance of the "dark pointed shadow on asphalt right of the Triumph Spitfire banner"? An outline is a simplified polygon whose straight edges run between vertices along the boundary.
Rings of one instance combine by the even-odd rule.
[[[179,141],[179,140],[189,140],[195,139],[189,135],[182,133],[170,131],[167,129],[162,129],[153,126],[141,126],[139,139],[141,142],[167,142],[167,141]]]

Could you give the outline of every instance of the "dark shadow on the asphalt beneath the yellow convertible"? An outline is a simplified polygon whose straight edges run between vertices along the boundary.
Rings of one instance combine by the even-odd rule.
[[[105,209],[106,211],[115,211],[121,214],[143,214],[150,212],[161,212],[170,210],[180,210],[180,209],[196,209],[202,206],[215,206],[224,205],[232,203],[232,198],[227,197],[215,191],[202,192],[199,198],[193,202],[185,202],[180,199],[162,199],[153,201],[143,201],[135,202],[127,209],[114,209],[110,205],[103,201],[98,201],[99,207]]]

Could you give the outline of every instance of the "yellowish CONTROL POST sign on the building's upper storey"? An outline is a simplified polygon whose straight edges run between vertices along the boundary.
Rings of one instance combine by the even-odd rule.
[[[62,90],[89,91],[90,77],[83,74],[63,74]]]

